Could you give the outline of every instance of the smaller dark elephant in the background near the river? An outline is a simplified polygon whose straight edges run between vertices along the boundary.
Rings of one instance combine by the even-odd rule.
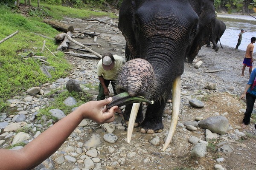
[[[220,41],[220,45],[221,45],[220,38],[224,34],[225,30],[226,30],[226,24],[223,21],[216,19],[214,30],[212,32],[212,35],[209,37],[209,41],[207,42],[206,47],[211,47],[210,42],[212,42],[212,45],[213,45],[212,49],[214,49],[217,52],[219,49],[217,43],[218,41]],[[223,48],[222,45],[221,45],[221,48]]]

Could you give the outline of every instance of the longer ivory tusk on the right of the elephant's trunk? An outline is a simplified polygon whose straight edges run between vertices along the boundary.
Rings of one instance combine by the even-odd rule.
[[[171,120],[171,125],[169,127],[169,133],[166,138],[166,142],[163,146],[163,151],[166,150],[170,142],[172,141],[172,137],[174,135],[177,122],[178,122],[178,117],[179,117],[179,110],[180,110],[180,76],[177,77],[173,84],[172,84],[172,120]]]

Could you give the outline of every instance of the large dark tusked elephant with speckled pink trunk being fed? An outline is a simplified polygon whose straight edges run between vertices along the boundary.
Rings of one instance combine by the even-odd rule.
[[[142,133],[163,130],[163,110],[172,102],[172,121],[164,150],[177,125],[180,104],[180,76],[186,58],[191,63],[209,40],[215,25],[213,0],[123,0],[118,28],[126,40],[125,58],[116,81],[117,93],[154,100],[145,118],[142,104],[137,108],[134,127]],[[132,104],[123,119],[129,123]],[[134,117],[134,116],[133,116]]]

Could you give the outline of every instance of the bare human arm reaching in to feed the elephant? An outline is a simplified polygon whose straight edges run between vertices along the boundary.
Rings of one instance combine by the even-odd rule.
[[[79,106],[20,150],[0,149],[0,170],[30,170],[53,153],[66,141],[83,119],[99,124],[113,122],[117,106],[107,110],[112,98],[90,101]]]

